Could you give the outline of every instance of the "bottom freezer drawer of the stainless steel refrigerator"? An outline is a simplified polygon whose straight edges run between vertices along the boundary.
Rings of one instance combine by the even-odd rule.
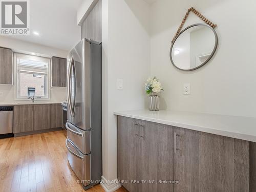
[[[76,176],[84,186],[90,184],[91,180],[91,155],[83,155],[77,148],[66,139],[68,150],[68,161]]]

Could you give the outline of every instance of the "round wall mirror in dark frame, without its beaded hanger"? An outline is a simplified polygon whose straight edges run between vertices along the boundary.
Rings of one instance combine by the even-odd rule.
[[[216,31],[205,24],[194,24],[180,32],[170,47],[170,60],[183,71],[205,65],[214,55],[218,45]]]

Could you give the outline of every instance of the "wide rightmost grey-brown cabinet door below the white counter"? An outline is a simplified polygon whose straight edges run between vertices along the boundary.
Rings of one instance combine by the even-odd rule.
[[[174,191],[249,191],[247,141],[175,127]]]

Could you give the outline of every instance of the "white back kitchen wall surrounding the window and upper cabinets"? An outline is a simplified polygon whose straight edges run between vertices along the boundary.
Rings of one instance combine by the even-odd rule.
[[[66,58],[68,51],[55,49],[47,46],[41,46],[38,44],[32,44],[30,42],[21,41],[13,38],[0,36],[0,47],[7,47],[15,50],[16,52],[36,53],[40,56],[57,56]],[[15,82],[13,82],[15,83]],[[0,103],[11,103],[15,101],[14,86],[1,85],[0,92],[3,92],[3,96],[0,96]],[[51,99],[50,101],[65,101],[66,100],[66,88],[51,88]],[[30,101],[28,101],[30,102]]]

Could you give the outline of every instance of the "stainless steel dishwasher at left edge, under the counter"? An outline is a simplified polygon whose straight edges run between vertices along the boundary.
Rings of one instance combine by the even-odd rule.
[[[13,137],[13,106],[0,106],[0,138]]]

